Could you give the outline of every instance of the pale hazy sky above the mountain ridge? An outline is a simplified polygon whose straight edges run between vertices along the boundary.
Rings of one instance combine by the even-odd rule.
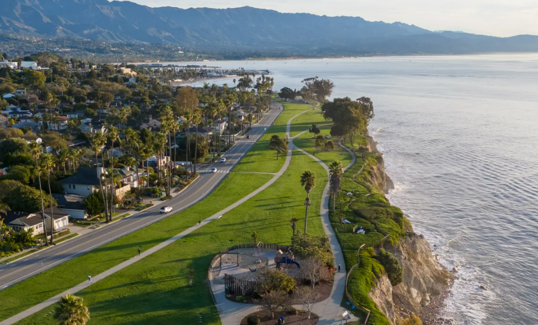
[[[538,35],[538,0],[131,0],[147,6],[230,8],[250,5],[281,12],[360,16],[429,30],[493,36]]]

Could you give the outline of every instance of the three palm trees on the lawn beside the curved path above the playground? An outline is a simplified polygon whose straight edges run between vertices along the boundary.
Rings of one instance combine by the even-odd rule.
[[[332,211],[335,210],[336,197],[339,196],[342,175],[344,174],[344,168],[342,167],[342,162],[333,161],[329,166],[329,195],[332,198]],[[316,174],[313,171],[307,169],[301,174],[301,186],[305,188],[306,199],[305,199],[305,234],[307,232],[308,224],[308,207],[311,204],[310,202],[310,192],[316,187]],[[297,223],[296,218],[291,220],[293,234],[295,236],[295,224]]]

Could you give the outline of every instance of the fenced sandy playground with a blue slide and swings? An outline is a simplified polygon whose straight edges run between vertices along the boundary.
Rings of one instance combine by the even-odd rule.
[[[282,250],[236,249],[223,253],[221,262],[218,277],[229,274],[236,278],[251,280],[256,277],[256,272],[264,267],[278,269],[289,277],[299,277],[301,273],[301,261],[295,258],[293,253]]]

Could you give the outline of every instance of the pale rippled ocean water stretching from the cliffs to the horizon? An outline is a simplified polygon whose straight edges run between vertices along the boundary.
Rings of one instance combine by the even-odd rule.
[[[538,324],[538,54],[209,63],[269,69],[274,89],[318,76],[333,97],[371,97],[389,199],[457,269],[443,316]]]

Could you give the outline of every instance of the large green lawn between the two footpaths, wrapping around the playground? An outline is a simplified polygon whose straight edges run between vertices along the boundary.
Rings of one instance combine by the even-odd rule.
[[[77,293],[88,303],[88,324],[195,324],[200,315],[204,324],[220,324],[207,282],[209,263],[229,246],[252,242],[253,231],[258,233],[258,241],[290,243],[289,220],[299,218],[297,228],[303,228],[306,193],[300,174],[305,169],[312,169],[317,176],[317,185],[310,193],[308,232],[324,235],[320,204],[327,174],[305,154],[295,154],[284,175],[220,220]],[[187,275],[191,268],[195,270],[192,287]],[[17,324],[56,324],[46,316],[52,309],[51,306]]]

